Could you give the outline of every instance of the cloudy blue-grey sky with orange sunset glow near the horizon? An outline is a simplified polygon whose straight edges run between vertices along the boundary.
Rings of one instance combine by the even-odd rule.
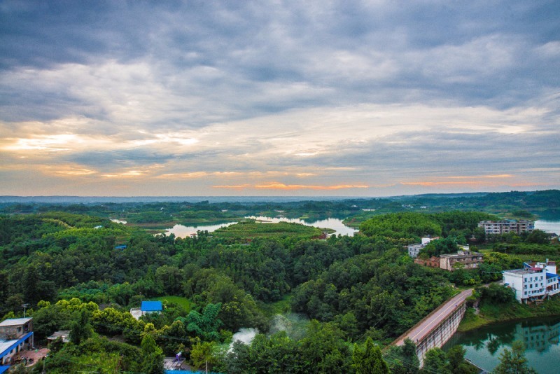
[[[0,1],[0,195],[560,188],[560,1]]]

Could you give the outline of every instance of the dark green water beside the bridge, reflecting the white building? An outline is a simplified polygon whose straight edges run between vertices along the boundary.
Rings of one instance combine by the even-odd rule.
[[[524,342],[529,366],[538,373],[559,373],[560,317],[527,319],[484,326],[467,333],[456,333],[443,349],[460,344],[467,350],[465,357],[491,371],[500,363],[503,349],[511,349],[514,340]]]

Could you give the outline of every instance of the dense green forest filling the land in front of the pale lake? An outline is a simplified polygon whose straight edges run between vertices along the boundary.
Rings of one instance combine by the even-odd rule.
[[[204,212],[254,212],[232,203],[201,204]],[[305,204],[301,209],[315,212],[325,207]],[[172,205],[139,205],[134,214]],[[457,286],[496,280],[501,270],[519,267],[524,254],[554,258],[559,251],[539,232],[486,238],[477,222],[496,216],[482,212],[379,214],[363,221],[354,237],[325,238],[307,226],[245,220],[176,238],[111,221],[121,208],[3,207],[0,317],[21,316],[27,303],[36,341],[61,329],[72,332],[71,342],[52,345],[44,363],[49,373],[87,367],[161,373],[163,356],[177,352],[195,368],[209,364],[224,373],[368,373],[373,367],[413,373],[419,369],[409,346],[380,348]],[[454,272],[417,265],[406,245],[422,235],[484,247],[485,263]],[[161,314],[139,320],[130,314],[141,300],[156,299],[164,300]],[[252,342],[232,343],[245,328],[258,331]],[[460,350],[436,353],[439,361],[429,365],[451,370],[462,364]]]

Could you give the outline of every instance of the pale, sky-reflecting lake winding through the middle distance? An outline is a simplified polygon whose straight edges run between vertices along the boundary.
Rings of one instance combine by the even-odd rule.
[[[265,216],[248,216],[246,218],[256,219],[258,221],[268,221],[273,223],[294,222],[294,223],[301,223],[302,225],[305,226],[314,226],[318,228],[332,228],[332,230],[336,231],[335,235],[340,234],[340,235],[353,236],[354,233],[358,231],[353,228],[349,228],[348,226],[344,226],[344,224],[342,223],[342,219],[330,218],[330,219],[321,219],[319,221],[314,221],[314,222],[305,222],[302,221],[301,219],[271,218]],[[165,230],[165,235],[174,234],[175,237],[188,237],[191,234],[196,234],[197,230],[202,230],[202,231],[208,230],[208,232],[211,233],[212,231],[217,230],[218,228],[224,226],[230,226],[234,223],[236,222],[224,222],[216,225],[206,225],[206,226],[175,225],[172,228],[168,228],[167,230]]]

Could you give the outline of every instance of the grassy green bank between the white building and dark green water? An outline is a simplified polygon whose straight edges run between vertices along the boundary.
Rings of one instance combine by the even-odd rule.
[[[560,316],[560,298],[558,297],[545,300],[540,305],[525,305],[517,303],[517,301],[505,304],[486,303],[479,307],[478,312],[475,308],[468,308],[457,331],[470,331],[497,322],[554,316]]]

